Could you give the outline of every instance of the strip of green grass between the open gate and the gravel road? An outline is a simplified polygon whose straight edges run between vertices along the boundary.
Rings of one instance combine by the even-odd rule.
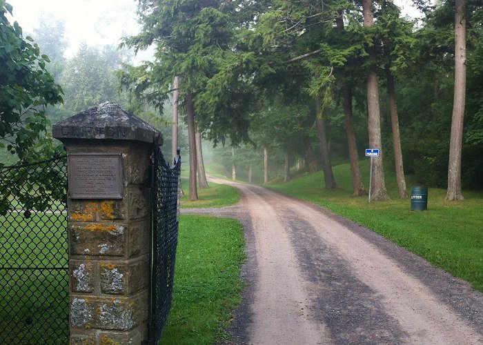
[[[181,215],[172,309],[160,344],[214,344],[241,302],[242,224]]]

